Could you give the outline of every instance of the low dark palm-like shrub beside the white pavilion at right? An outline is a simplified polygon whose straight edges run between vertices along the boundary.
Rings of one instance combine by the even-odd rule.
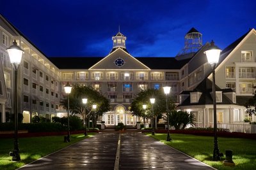
[[[175,130],[185,129],[187,125],[195,125],[195,115],[187,111],[170,111],[169,122],[175,127]]]

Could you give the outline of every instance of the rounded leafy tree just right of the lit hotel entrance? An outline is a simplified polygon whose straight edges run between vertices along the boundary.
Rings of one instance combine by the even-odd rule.
[[[146,115],[147,118],[152,117],[152,104],[150,103],[150,98],[154,97],[156,99],[156,103],[153,106],[154,109],[154,123],[155,127],[157,128],[157,120],[163,117],[163,113],[166,113],[166,96],[163,92],[163,89],[156,90],[156,89],[148,89],[143,90],[137,94],[134,100],[131,103],[131,111],[133,115],[138,117],[144,117],[145,113],[150,113],[150,115]],[[169,110],[173,110],[175,108],[175,104],[169,97]],[[147,110],[143,110],[143,104],[147,104]],[[166,118],[164,118],[166,120]]]

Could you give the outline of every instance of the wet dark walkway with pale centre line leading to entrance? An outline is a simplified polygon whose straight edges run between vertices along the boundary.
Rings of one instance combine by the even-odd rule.
[[[114,169],[115,165],[116,169],[212,169],[140,132],[103,132],[20,170]]]

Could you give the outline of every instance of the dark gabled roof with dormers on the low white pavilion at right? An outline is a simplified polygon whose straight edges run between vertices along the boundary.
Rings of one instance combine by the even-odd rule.
[[[220,87],[216,86],[216,91],[223,91]],[[193,92],[202,92],[198,103],[190,103],[190,97],[185,99],[182,104],[179,106],[190,106],[190,105],[205,105],[205,104],[212,104],[212,81],[208,78],[205,78],[194,90]],[[234,104],[227,96],[224,94],[222,95],[222,102],[216,104]]]

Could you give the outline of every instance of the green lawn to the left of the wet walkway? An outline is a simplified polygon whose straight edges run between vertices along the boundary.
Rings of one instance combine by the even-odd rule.
[[[20,149],[20,161],[13,162],[12,157],[9,156],[9,152],[13,150],[13,139],[1,139],[0,140],[0,169],[11,170],[33,162],[36,159],[40,159],[49,153],[56,152],[61,148],[65,148],[68,145],[77,143],[85,138],[92,136],[95,133],[88,133],[88,136],[84,137],[83,134],[72,134],[70,136],[70,143],[64,143],[63,136],[44,136],[33,138],[19,138]]]

